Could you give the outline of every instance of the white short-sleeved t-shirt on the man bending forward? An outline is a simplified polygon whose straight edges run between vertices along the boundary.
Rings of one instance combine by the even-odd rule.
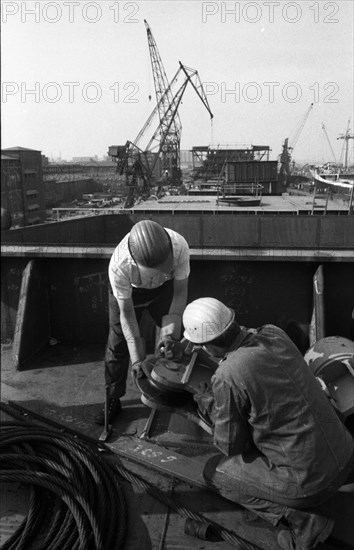
[[[117,299],[130,298],[132,287],[157,288],[169,279],[181,280],[189,276],[189,247],[186,239],[172,229],[165,227],[165,230],[170,236],[173,249],[173,268],[170,273],[161,273],[158,269],[150,269],[150,276],[147,276],[139,271],[138,265],[129,252],[129,233],[121,240],[112,254],[108,267],[112,292]]]

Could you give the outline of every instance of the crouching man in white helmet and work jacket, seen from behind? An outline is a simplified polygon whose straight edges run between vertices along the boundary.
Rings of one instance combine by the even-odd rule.
[[[320,506],[350,474],[351,435],[280,328],[240,327],[214,298],[190,303],[183,325],[188,340],[220,358],[211,387],[194,396],[223,453],[206,463],[205,478],[225,498],[281,522],[281,548],[314,548],[333,528]]]

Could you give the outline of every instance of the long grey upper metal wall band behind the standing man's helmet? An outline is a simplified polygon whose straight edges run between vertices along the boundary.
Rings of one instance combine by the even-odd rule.
[[[180,197],[179,197],[180,198]],[[277,198],[277,197],[275,197]],[[281,198],[281,197],[280,197]],[[270,200],[269,198],[264,199]],[[176,204],[173,203],[175,206]],[[178,203],[177,203],[178,204]],[[182,204],[182,203],[180,203]],[[145,205],[145,208],[148,206]],[[166,206],[166,204],[165,204]],[[167,205],[168,206],[168,205]],[[227,208],[227,207],[225,207]],[[190,247],[257,247],[339,250],[354,249],[353,216],[298,216],[288,203],[288,211],[272,210],[268,215],[245,215],[242,211],[203,215],[202,211],[171,216],[170,212],[150,209],[149,218],[181,233]],[[262,208],[265,208],[263,206]],[[173,209],[172,209],[173,210]],[[174,212],[173,212],[174,213]],[[253,214],[256,209],[253,210]],[[270,215],[269,215],[270,214]],[[2,232],[2,243],[61,243],[114,245],[132,225],[146,219],[144,210],[117,215],[100,215]]]

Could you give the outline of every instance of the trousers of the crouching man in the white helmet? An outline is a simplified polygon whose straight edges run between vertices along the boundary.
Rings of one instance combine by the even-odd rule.
[[[277,525],[282,517],[288,517],[289,513],[296,510],[326,515],[326,502],[341,485],[349,482],[353,461],[351,459],[338,472],[330,487],[308,496],[299,495],[295,484],[288,485],[284,490],[284,480],[281,480],[279,486],[274,479],[269,482],[270,470],[271,466],[264,455],[254,450],[244,455],[211,457],[205,464],[204,477],[223,497]]]

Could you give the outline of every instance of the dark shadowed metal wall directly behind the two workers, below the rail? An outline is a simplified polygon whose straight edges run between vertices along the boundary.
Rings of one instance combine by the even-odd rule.
[[[104,344],[108,331],[108,259],[38,258],[49,296],[51,337],[59,341]],[[16,325],[26,258],[1,262],[3,341]],[[274,323],[286,330],[302,351],[309,347],[312,278],[317,262],[192,260],[189,297],[213,296],[235,309],[246,326]],[[354,263],[324,264],[327,334],[354,337]]]

